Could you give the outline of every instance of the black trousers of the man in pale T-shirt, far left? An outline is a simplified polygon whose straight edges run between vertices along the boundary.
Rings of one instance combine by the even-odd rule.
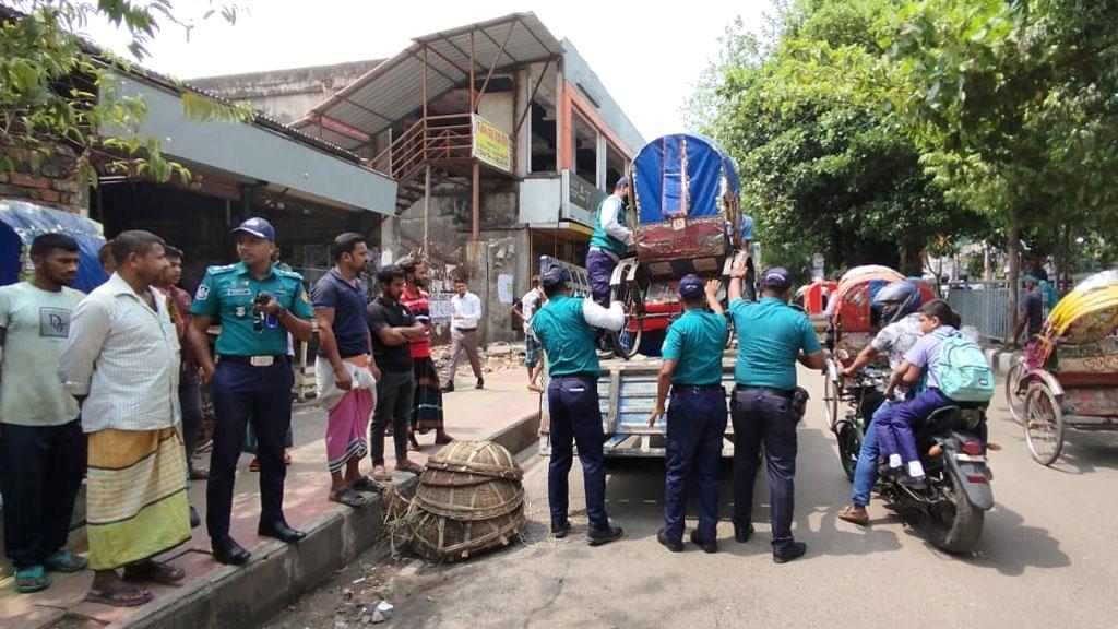
[[[66,545],[85,461],[82,420],[0,426],[3,545],[17,570],[41,565]]]

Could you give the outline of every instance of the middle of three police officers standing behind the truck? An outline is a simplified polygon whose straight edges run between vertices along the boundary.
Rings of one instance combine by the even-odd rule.
[[[683,513],[686,486],[693,478],[699,490],[699,528],[691,542],[708,553],[718,551],[718,464],[726,432],[726,389],[722,388],[722,348],[726,317],[718,302],[721,282],[707,283],[695,275],[680,280],[683,316],[672,322],[661,350],[663,363],[656,387],[656,406],[648,426],[664,414],[669,381],[664,456],[664,526],[656,541],[669,551],[683,550]],[[709,306],[713,312],[704,307]]]

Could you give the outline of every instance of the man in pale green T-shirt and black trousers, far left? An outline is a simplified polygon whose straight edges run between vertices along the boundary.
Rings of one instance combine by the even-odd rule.
[[[65,548],[85,470],[77,402],[58,381],[70,313],[84,297],[77,242],[42,234],[31,243],[35,274],[0,288],[0,494],[4,553],[16,590],[50,586],[47,571],[77,572],[86,561]]]

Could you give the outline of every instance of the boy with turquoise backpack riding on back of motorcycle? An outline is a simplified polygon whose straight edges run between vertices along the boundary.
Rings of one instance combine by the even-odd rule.
[[[925,336],[893,372],[885,396],[892,397],[902,382],[916,385],[925,375],[926,387],[915,398],[879,413],[873,425],[890,471],[901,475],[901,484],[923,488],[923,464],[912,426],[946,406],[989,402],[994,396],[994,373],[978,344],[959,334],[958,314],[946,301],[930,301],[918,313]]]

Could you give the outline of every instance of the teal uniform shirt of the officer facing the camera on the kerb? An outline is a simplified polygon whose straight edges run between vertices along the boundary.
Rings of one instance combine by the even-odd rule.
[[[269,292],[292,314],[311,319],[314,310],[303,289],[303,276],[284,271],[275,264],[263,280],[257,280],[244,262],[210,266],[198,284],[191,314],[214,317],[221,326],[221,336],[214,348],[228,356],[282,356],[287,353],[287,330],[283,326],[254,329],[253,300],[259,292]]]

